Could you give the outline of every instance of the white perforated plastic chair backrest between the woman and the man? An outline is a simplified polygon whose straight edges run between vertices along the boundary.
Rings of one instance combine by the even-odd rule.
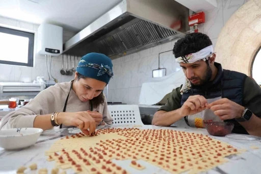
[[[143,125],[138,105],[108,105],[113,125]]]

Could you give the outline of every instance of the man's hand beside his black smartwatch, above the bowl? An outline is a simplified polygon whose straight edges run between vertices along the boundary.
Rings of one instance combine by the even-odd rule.
[[[221,98],[211,104],[207,105],[208,109],[211,109],[215,115],[219,116],[220,119],[233,119],[240,118],[245,110],[245,107],[234,103],[227,98]]]

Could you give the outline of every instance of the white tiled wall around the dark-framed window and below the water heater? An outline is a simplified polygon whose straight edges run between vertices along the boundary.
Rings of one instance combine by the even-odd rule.
[[[0,16],[0,26],[10,27],[13,29],[21,29],[26,31],[35,32],[35,46],[36,51],[37,46],[37,29],[38,24],[28,23],[23,21],[18,21],[14,19],[9,19]],[[63,42],[70,39],[75,33],[64,31]],[[0,55],[1,56],[1,55]],[[54,78],[58,79],[59,82],[65,82],[73,79],[73,76],[62,76],[60,69],[62,68],[62,57],[54,57],[53,64],[51,65],[51,72]],[[64,64],[65,65],[65,64]],[[16,65],[6,65],[0,64],[0,82],[2,81],[22,81],[22,82],[32,82],[37,76],[44,76],[47,79],[47,70],[45,66],[45,57],[43,55],[34,55],[34,67],[26,66],[16,66]]]

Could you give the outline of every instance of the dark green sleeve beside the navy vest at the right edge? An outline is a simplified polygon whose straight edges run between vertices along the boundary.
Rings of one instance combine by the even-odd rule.
[[[251,78],[247,77],[244,86],[244,106],[257,117],[261,117],[261,88]]]

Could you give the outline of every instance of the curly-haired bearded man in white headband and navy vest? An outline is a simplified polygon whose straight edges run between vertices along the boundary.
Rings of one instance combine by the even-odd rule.
[[[203,120],[225,121],[234,123],[233,133],[261,136],[261,88],[246,74],[222,69],[207,35],[186,35],[173,54],[186,82],[172,91],[152,125],[170,126],[184,118],[188,126],[203,128]]]

